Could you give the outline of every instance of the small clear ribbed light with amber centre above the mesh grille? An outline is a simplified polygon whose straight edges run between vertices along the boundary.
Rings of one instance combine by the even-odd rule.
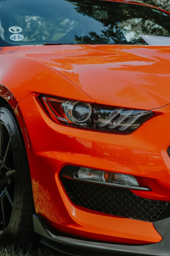
[[[94,170],[86,167],[81,167],[78,170],[77,178],[100,181],[104,183],[116,183],[128,186],[139,186],[139,183],[132,175],[114,173],[102,170]]]

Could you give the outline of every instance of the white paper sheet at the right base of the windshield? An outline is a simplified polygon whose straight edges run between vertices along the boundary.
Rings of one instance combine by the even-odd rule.
[[[141,37],[145,40],[146,43],[150,45],[168,45],[170,46],[170,37],[166,36],[144,36]]]

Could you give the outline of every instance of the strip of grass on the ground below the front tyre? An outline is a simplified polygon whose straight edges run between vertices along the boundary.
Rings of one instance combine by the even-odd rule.
[[[0,246],[0,256],[61,256],[59,252],[52,250],[43,245],[37,246],[36,249],[33,247],[16,249],[14,246],[3,247]],[[63,254],[63,256],[68,256]]]

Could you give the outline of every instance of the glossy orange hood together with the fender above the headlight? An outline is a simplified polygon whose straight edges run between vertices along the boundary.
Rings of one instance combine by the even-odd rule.
[[[18,101],[38,92],[145,110],[170,103],[168,46],[13,46],[4,47],[1,54],[0,80]],[[17,84],[10,84],[4,74],[3,63],[9,60],[21,68]],[[11,72],[15,77],[13,66]]]

